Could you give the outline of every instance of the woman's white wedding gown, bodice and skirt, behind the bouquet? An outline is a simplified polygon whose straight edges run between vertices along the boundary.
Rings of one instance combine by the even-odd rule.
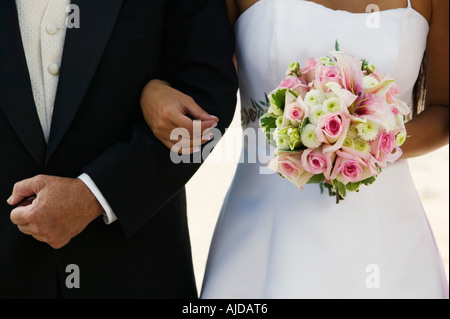
[[[379,19],[378,19],[379,18]],[[294,61],[342,51],[368,59],[412,97],[429,26],[411,4],[379,16],[302,0],[261,0],[236,25],[245,128]],[[253,109],[252,109],[253,108]],[[266,154],[266,141],[243,153]],[[239,164],[219,217],[202,298],[448,298],[443,265],[407,161],[336,205],[265,163]],[[447,213],[444,209],[442,213]]]

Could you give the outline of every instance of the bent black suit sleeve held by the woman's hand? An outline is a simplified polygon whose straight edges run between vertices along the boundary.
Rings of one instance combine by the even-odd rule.
[[[172,0],[165,11],[161,78],[220,118],[224,131],[236,107],[234,37],[223,0]],[[200,164],[174,164],[141,119],[119,143],[85,167],[127,236],[163,208]]]

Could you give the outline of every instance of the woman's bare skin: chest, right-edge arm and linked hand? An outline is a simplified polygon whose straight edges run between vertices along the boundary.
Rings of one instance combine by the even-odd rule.
[[[226,0],[226,2],[230,23],[234,25],[239,16],[258,1]],[[367,7],[373,4],[376,4],[380,11],[406,8],[408,5],[407,0],[314,0],[311,2],[332,10],[344,10],[352,13],[365,13]],[[449,143],[449,1],[412,0],[411,2],[413,8],[430,25],[426,53],[428,60],[427,100],[425,111],[407,124],[410,138],[402,146],[403,158],[424,155]],[[158,94],[162,91],[164,94]],[[177,143],[177,141],[170,141],[170,133],[173,128],[184,127],[192,130],[192,121],[188,120],[184,116],[185,114],[191,114],[194,118],[202,120],[202,130],[214,126],[218,121],[218,119],[211,118],[206,112],[202,112],[194,101],[186,99],[185,96],[180,95],[180,92],[171,89],[161,81],[151,81],[148,84],[143,92],[142,101],[148,124],[158,139],[169,148]],[[177,113],[182,116],[178,117],[180,118],[178,122],[172,120],[168,125],[164,121],[164,117],[159,114],[163,109],[165,114],[170,114],[171,119]],[[208,137],[208,135],[205,136]],[[205,137],[203,140],[198,137],[191,138],[190,151],[198,149],[198,146],[206,143],[207,140],[208,138]]]

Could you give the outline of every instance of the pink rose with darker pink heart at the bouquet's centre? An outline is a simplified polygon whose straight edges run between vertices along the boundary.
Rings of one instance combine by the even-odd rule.
[[[322,116],[317,125],[317,138],[321,143],[333,145],[325,147],[324,152],[335,152],[344,145],[350,119],[344,113],[330,113]]]

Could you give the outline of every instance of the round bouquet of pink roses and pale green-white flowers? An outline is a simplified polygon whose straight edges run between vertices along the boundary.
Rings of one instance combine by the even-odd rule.
[[[395,80],[374,65],[330,54],[289,67],[260,127],[277,148],[270,169],[300,189],[320,184],[339,203],[401,157],[410,109]]]

